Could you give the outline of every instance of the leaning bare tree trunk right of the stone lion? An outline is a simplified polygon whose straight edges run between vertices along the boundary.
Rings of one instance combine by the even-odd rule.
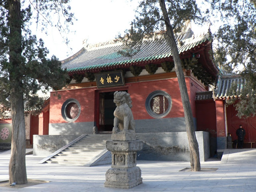
[[[175,42],[173,28],[170,24],[168,13],[166,10],[164,0],[159,0],[159,4],[163,13],[164,22],[166,25],[166,33],[168,36],[168,42],[172,50],[172,57],[174,60],[175,72],[177,74],[178,83],[180,87],[180,95],[182,99],[182,105],[184,109],[184,116],[186,122],[186,131],[188,134],[188,143],[190,146],[190,164],[192,171],[200,171],[200,158],[199,158],[199,148],[198,142],[196,140],[196,134],[194,132],[194,121],[193,114],[190,106],[190,101],[188,97],[188,90],[186,87],[186,81],[182,70],[182,64],[178,52],[178,48]]]

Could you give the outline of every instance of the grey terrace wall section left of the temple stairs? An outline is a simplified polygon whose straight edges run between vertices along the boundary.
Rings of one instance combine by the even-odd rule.
[[[34,135],[33,155],[49,156],[80,135]]]

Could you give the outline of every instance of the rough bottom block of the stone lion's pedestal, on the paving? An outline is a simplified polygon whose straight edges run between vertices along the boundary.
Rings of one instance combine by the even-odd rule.
[[[110,168],[106,172],[105,187],[129,189],[142,184],[141,170],[139,167]]]

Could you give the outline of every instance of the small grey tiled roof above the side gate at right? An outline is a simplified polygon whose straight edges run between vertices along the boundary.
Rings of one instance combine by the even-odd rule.
[[[244,78],[242,78],[239,74],[235,75],[222,75],[218,77],[218,82],[216,84],[214,92],[214,98],[227,98],[230,96],[237,96],[237,95],[230,95],[230,87],[235,83],[237,84],[237,92],[240,92],[243,89],[245,84]]]

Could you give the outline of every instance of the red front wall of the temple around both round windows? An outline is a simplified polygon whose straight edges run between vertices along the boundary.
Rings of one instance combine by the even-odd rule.
[[[196,84],[195,81],[193,81],[193,83]],[[196,92],[202,90],[198,90],[197,87],[199,86],[191,87],[190,78],[186,78],[186,85],[188,86],[188,95],[190,97],[193,116],[196,117],[196,107],[194,99]],[[170,113],[164,118],[184,117],[184,110],[182,107],[180,88],[177,78],[128,83],[125,87],[111,88],[109,89],[109,91],[120,90],[122,88],[128,90],[128,93],[132,98],[132,112],[135,120],[153,119],[153,117],[150,116],[146,111],[145,102],[148,95],[156,90],[162,90],[167,92],[172,99],[172,109]],[[95,111],[95,106],[97,106],[97,104],[95,105],[94,100],[95,98],[97,98],[98,92],[102,91],[103,89],[99,90],[96,87],[93,87],[52,92],[50,99],[50,123],[66,122],[62,118],[61,108],[62,104],[70,98],[78,100],[81,106],[80,116],[75,122],[94,122],[94,115],[97,114],[97,111]],[[60,95],[60,99],[58,99],[56,94]]]

